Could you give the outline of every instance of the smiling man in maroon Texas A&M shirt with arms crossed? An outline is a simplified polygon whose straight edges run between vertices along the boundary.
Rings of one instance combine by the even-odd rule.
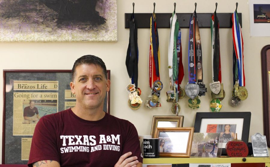
[[[103,111],[110,80],[104,62],[92,55],[77,59],[72,69],[76,106],[38,122],[28,166],[141,167],[136,128]]]

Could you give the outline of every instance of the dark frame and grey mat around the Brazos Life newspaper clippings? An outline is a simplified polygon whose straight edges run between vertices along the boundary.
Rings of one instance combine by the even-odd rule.
[[[110,70],[107,70],[110,79]],[[14,80],[17,81],[57,81],[57,90],[14,90]],[[3,70],[3,132],[2,132],[2,164],[27,164],[21,160],[22,138],[32,138],[32,135],[13,135],[13,93],[58,93],[57,112],[65,109],[65,90],[70,89],[71,70]],[[75,99],[72,100],[76,101]],[[110,91],[104,101],[104,111],[110,114]]]

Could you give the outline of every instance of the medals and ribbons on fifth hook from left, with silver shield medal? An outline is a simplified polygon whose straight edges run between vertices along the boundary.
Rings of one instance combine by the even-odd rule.
[[[223,83],[221,83],[221,63],[220,63],[220,44],[219,44],[219,22],[217,18],[217,3],[216,10],[211,17],[211,39],[212,39],[212,77],[210,109],[212,112],[219,112],[222,105],[220,100],[225,96]]]

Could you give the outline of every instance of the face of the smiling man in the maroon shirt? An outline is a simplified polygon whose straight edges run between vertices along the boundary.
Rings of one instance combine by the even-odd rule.
[[[103,106],[110,80],[106,80],[102,68],[94,64],[82,64],[76,67],[74,81],[70,82],[72,93],[76,95],[76,106],[95,109]]]

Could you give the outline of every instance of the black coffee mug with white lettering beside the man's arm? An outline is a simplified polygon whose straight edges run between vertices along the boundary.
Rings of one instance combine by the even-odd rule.
[[[143,139],[143,157],[159,158],[159,139],[144,138]]]

